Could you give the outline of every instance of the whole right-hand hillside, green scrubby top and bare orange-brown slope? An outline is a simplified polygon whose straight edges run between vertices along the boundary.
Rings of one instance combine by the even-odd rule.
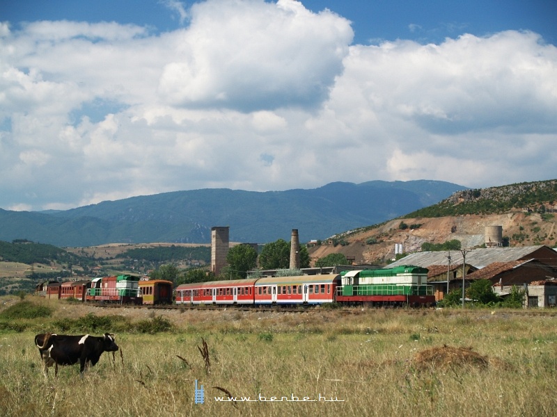
[[[338,252],[354,256],[354,263],[384,263],[395,257],[396,243],[402,243],[406,253],[421,250],[423,243],[448,240],[460,240],[462,247],[480,247],[487,226],[503,227],[503,239],[510,246],[553,247],[556,190],[557,181],[552,180],[459,191],[402,218],[334,236],[309,252],[313,259]],[[426,217],[427,213],[432,215]]]

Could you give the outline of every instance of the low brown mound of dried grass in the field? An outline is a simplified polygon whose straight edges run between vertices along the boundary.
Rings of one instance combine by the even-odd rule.
[[[432,347],[419,352],[414,357],[414,363],[418,368],[451,368],[454,366],[475,366],[487,368],[489,359],[473,352],[471,347]]]

